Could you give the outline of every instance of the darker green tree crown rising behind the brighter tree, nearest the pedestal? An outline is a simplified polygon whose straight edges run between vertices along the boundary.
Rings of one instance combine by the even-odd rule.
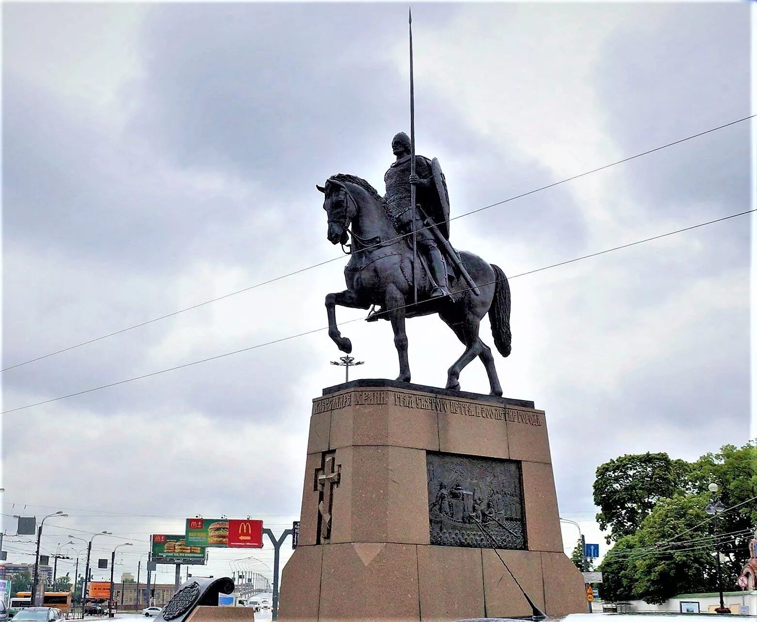
[[[649,452],[600,465],[593,493],[594,504],[601,510],[597,522],[602,530],[610,530],[607,543],[635,533],[659,499],[687,491],[690,469],[685,460]]]

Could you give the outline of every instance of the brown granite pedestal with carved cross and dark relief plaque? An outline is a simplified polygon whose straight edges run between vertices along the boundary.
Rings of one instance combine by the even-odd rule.
[[[324,393],[313,400],[280,620],[530,615],[503,561],[547,615],[586,611],[581,573],[562,552],[543,411],[392,381]],[[467,473],[480,458],[495,460]],[[490,474],[503,465],[504,484]]]

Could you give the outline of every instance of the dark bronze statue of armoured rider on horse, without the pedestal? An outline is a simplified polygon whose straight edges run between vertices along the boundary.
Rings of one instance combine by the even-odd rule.
[[[476,356],[486,369],[491,395],[502,395],[491,349],[478,335],[489,314],[494,345],[509,356],[510,290],[502,270],[449,242],[450,207],[447,182],[436,158],[415,154],[414,141],[400,132],[391,144],[396,157],[381,197],[364,179],[340,173],[316,186],[325,194],[327,237],[349,244],[344,269],[347,289],[326,296],[329,337],[349,354],[335,306],[369,309],[369,322],[388,319],[400,359],[398,381],[410,382],[405,320],[437,313],[465,345],[447,372],[447,388],[459,390],[459,375]]]

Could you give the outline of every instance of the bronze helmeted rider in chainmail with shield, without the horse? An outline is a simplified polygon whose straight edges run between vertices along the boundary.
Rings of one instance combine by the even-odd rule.
[[[385,201],[389,217],[394,222],[397,232],[407,235],[413,231],[413,212],[416,211],[410,204],[410,184],[416,186],[416,203],[421,204],[422,207],[431,204],[429,196],[435,191],[431,162],[423,156],[416,155],[416,174],[410,175],[410,138],[405,132],[400,132],[392,138],[391,151],[397,156],[397,161],[392,163],[384,176]],[[434,210],[425,208],[424,211],[426,216],[433,218]],[[449,296],[444,257],[439,250],[436,238],[431,231],[426,229],[426,226],[416,211],[417,244],[428,262],[428,269],[431,271],[431,278],[435,284],[431,290],[431,298]]]

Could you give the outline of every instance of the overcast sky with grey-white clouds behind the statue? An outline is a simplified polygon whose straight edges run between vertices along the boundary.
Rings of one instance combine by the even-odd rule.
[[[441,161],[453,216],[751,114],[749,8],[415,5],[417,151]],[[3,372],[4,409],[326,325],[346,258],[315,185],[353,173],[383,193],[410,125],[407,5],[2,10],[3,367],[337,258]],[[456,220],[451,241],[513,276],[748,210],[749,131]],[[560,513],[587,541],[602,462],[748,440],[749,230],[740,216],[512,278],[500,379],[547,412]],[[343,334],[357,377],[397,375],[386,322]],[[413,381],[444,386],[459,342],[436,318],[408,334]],[[280,532],[300,512],[310,400],[341,381],[340,355],[321,331],[4,415],[5,530],[62,509],[42,549],[110,530],[95,552],[136,545],[119,572],[196,513]],[[461,384],[488,391],[480,362]],[[8,560],[33,561],[14,540]],[[213,550],[207,570],[244,556]]]

